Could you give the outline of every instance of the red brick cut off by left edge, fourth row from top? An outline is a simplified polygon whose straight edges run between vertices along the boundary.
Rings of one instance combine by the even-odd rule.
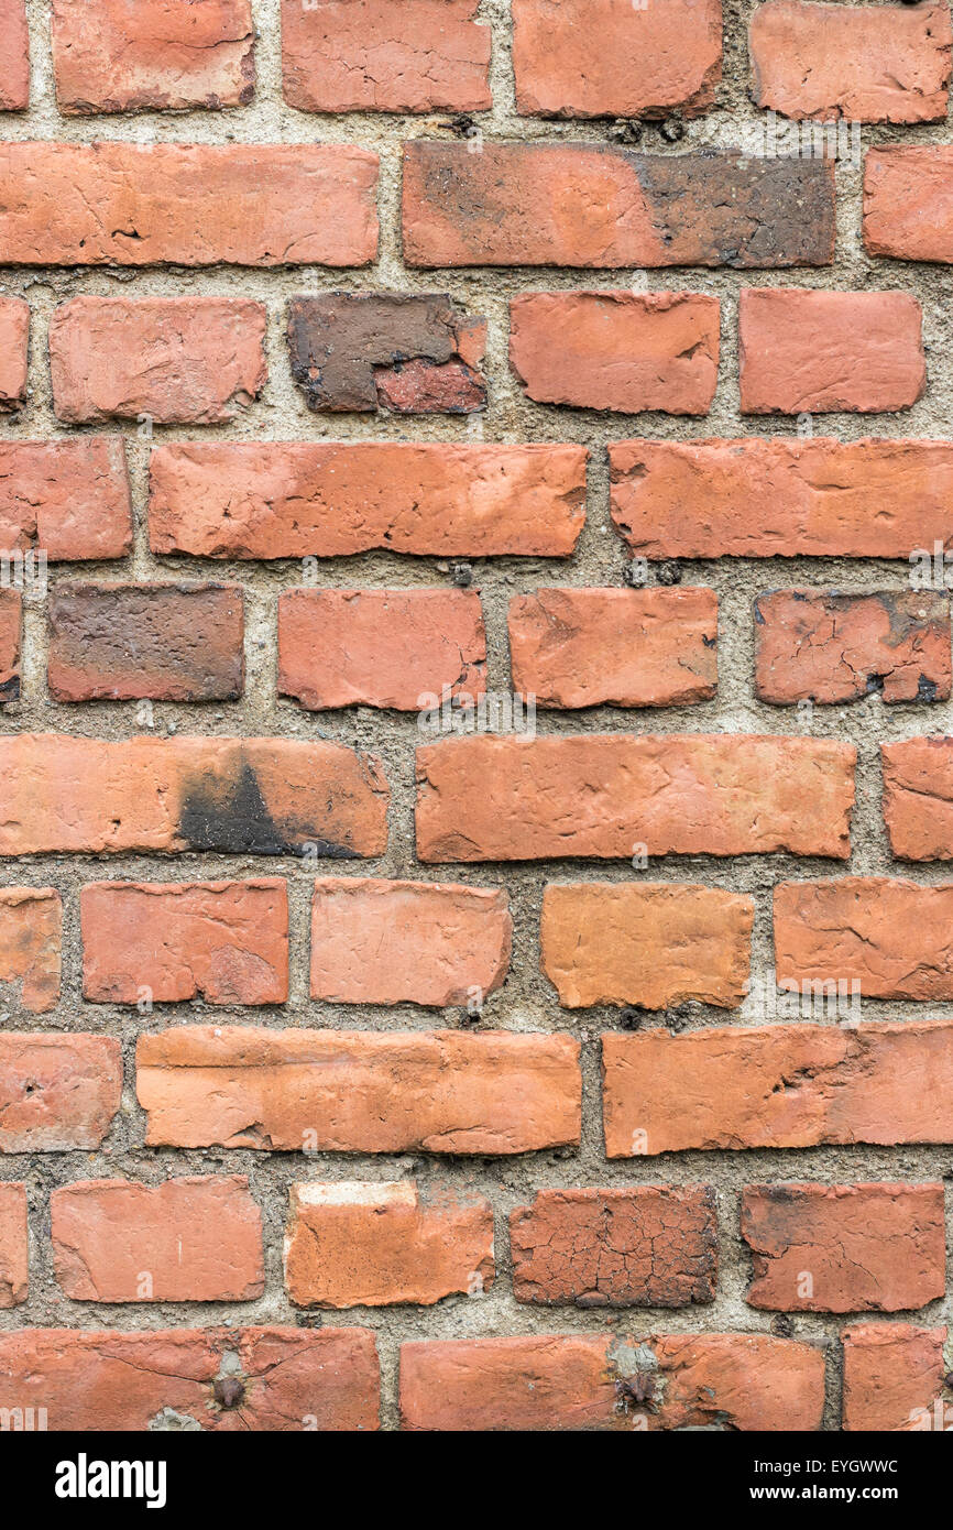
[[[0,441],[0,546],[64,562],[125,557],[132,503],[119,438]]]

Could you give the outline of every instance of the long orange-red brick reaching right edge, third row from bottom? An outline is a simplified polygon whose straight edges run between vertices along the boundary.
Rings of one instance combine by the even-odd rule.
[[[953,1135],[947,1021],[606,1034],[603,1068],[609,1158]]]

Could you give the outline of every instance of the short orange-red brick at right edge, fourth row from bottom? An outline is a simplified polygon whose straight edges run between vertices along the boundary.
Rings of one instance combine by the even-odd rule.
[[[774,889],[780,982],[849,982],[867,999],[953,999],[953,883],[889,877]]]

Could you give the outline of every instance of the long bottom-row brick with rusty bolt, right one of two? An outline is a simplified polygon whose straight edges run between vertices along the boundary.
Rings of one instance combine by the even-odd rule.
[[[825,1357],[768,1334],[532,1336],[401,1346],[405,1429],[820,1429]]]

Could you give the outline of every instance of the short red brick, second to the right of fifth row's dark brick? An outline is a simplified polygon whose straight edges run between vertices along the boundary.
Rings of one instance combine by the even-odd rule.
[[[543,707],[676,707],[717,688],[711,589],[535,589],[509,601],[512,687]]]

